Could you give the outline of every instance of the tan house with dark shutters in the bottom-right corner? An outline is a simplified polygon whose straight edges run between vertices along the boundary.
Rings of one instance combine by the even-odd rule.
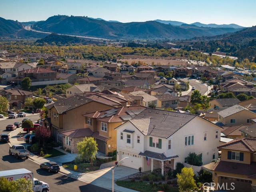
[[[225,190],[228,188],[233,192],[255,192],[256,140],[238,138],[218,146],[218,149],[221,159],[212,168],[216,186],[224,185]]]

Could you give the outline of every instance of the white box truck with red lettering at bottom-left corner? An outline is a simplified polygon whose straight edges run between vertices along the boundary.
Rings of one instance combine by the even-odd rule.
[[[49,185],[45,182],[38,181],[36,178],[34,178],[33,172],[27,169],[14,169],[14,170],[0,171],[0,177],[4,177],[8,181],[14,181],[16,179],[24,178],[26,180],[33,181],[32,188],[34,192],[49,191]]]

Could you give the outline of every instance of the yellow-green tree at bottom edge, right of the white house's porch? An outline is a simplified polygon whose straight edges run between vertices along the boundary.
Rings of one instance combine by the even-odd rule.
[[[177,174],[177,178],[180,191],[194,190],[194,188],[196,187],[196,183],[194,180],[194,171],[192,167],[182,168],[181,173]]]

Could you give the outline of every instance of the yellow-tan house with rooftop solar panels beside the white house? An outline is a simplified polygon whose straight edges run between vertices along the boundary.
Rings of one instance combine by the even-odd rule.
[[[96,139],[98,150],[106,155],[108,152],[116,150],[116,142],[119,138],[116,138],[115,128],[145,108],[143,106],[128,106],[83,114],[85,127],[93,132],[92,137]]]

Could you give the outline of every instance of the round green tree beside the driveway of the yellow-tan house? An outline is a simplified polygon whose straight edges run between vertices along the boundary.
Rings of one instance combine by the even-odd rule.
[[[86,137],[77,144],[78,155],[83,161],[89,159],[92,166],[92,160],[96,158],[95,155],[97,154],[98,150],[97,146],[98,144],[96,143],[96,140],[94,140],[94,138]]]

